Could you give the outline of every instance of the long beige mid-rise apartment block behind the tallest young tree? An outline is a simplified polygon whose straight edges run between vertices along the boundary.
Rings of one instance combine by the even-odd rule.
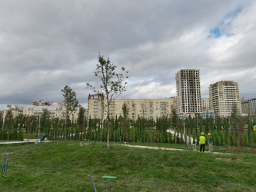
[[[176,98],[160,99],[112,99],[109,106],[109,117],[123,116],[123,104],[127,104],[128,118],[136,120],[139,117],[156,119],[171,114],[171,108],[176,108]],[[104,107],[105,106],[105,107]],[[88,117],[107,118],[107,101],[101,101],[98,94],[89,94]]]

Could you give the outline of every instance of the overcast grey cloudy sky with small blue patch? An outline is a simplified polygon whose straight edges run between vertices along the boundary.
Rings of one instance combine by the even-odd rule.
[[[99,52],[129,71],[119,98],[176,96],[185,68],[201,98],[221,80],[256,98],[256,1],[0,0],[1,108],[63,101],[65,84],[85,106]]]

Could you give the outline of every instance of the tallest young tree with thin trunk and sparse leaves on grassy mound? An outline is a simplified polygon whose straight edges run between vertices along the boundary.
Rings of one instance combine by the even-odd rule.
[[[127,84],[125,79],[128,78],[128,71],[125,71],[125,68],[121,68],[121,73],[118,73],[116,68],[117,66],[111,64],[109,58],[105,60],[103,56],[98,55],[95,77],[101,80],[101,85],[99,89],[96,89],[91,84],[87,84],[88,88],[101,95],[101,100],[105,98],[107,101],[107,148],[109,148],[109,105],[115,96],[125,91],[125,84]]]

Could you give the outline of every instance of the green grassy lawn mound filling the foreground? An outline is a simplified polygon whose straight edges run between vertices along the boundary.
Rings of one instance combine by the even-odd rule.
[[[256,154],[161,151],[80,141],[0,145],[0,191],[256,191]],[[137,143],[139,144],[139,143]],[[148,144],[147,144],[148,145]],[[156,145],[158,144],[149,144]],[[159,144],[159,147],[177,147]],[[104,175],[116,176],[106,180]]]

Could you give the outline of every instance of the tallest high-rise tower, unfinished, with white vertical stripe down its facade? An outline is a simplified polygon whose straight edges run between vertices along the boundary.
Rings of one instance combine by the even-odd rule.
[[[181,69],[176,73],[178,114],[201,113],[200,71]]]

